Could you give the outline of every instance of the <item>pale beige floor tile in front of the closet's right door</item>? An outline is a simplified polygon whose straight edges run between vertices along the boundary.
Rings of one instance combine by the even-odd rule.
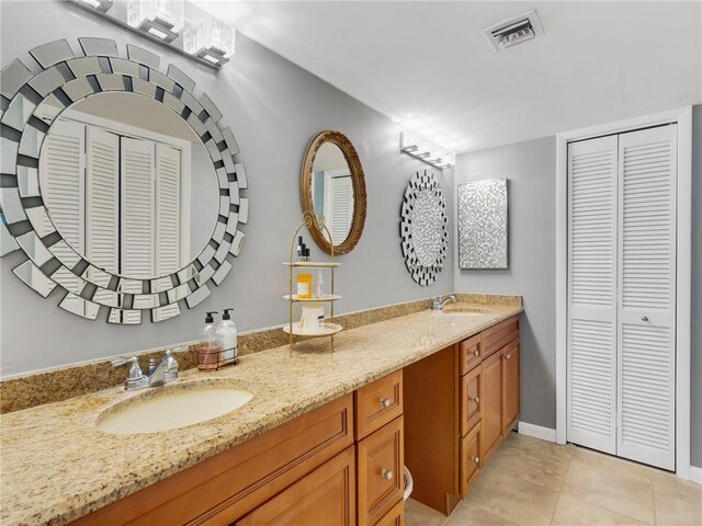
[[[653,484],[647,480],[573,461],[562,494],[647,524],[655,522]]]

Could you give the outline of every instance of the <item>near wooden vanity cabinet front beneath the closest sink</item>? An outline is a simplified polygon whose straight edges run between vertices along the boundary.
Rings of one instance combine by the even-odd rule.
[[[403,526],[403,371],[73,525]]]

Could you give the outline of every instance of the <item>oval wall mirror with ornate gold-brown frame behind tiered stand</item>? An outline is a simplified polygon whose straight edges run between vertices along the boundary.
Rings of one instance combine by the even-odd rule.
[[[303,211],[322,214],[329,236],[310,229],[327,253],[346,254],[359,242],[365,224],[363,167],[349,138],[339,132],[317,135],[305,153],[301,178]],[[330,239],[329,239],[330,238]]]

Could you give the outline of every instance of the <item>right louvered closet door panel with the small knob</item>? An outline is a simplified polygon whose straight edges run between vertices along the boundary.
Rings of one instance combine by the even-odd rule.
[[[675,469],[677,126],[620,135],[618,455]]]

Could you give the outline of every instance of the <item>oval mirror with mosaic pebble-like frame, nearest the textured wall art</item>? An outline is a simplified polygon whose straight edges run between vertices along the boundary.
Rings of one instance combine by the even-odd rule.
[[[417,172],[407,185],[400,210],[403,255],[412,279],[431,285],[446,259],[446,199],[431,173]]]

